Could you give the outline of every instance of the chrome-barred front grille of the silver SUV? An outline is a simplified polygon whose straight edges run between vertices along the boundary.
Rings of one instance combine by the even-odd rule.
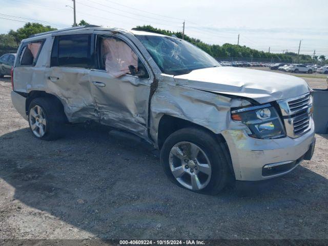
[[[312,100],[309,93],[278,101],[288,136],[296,138],[311,129]]]

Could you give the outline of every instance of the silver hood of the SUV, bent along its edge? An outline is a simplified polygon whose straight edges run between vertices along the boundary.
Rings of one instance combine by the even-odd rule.
[[[310,91],[305,80],[291,75],[247,68],[214,67],[174,76],[177,85],[252,98],[260,104]]]

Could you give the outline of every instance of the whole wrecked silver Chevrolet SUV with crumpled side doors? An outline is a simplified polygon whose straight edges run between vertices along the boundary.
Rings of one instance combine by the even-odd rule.
[[[11,98],[35,137],[96,121],[160,150],[177,185],[216,194],[229,180],[257,181],[311,159],[312,96],[301,78],[222,67],[176,37],[75,27],[19,46]]]

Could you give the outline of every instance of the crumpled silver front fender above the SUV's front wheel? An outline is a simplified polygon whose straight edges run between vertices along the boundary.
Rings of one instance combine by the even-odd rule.
[[[159,121],[163,115],[188,120],[219,134],[231,127],[230,109],[248,105],[249,101],[243,99],[180,86],[173,76],[161,74],[151,100],[150,134],[157,145]],[[235,124],[235,127],[243,129],[245,125]]]

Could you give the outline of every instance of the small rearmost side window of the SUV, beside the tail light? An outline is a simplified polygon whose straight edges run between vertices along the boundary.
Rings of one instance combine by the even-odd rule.
[[[19,55],[20,66],[35,66],[38,55],[42,49],[44,40],[29,42],[23,45]]]

